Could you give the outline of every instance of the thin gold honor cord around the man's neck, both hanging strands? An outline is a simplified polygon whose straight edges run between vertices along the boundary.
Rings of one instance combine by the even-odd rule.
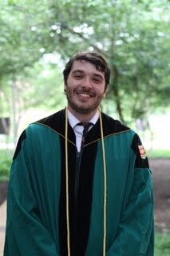
[[[105,143],[103,135],[103,125],[101,118],[101,110],[99,109],[99,118],[101,126],[101,144],[103,153],[103,170],[104,170],[104,234],[103,234],[103,256],[106,251],[106,205],[107,205],[107,175],[106,175],[106,162],[105,162]],[[65,183],[66,183],[66,222],[67,222],[67,250],[68,256],[70,256],[70,244],[69,244],[69,166],[68,166],[68,111],[65,108]]]

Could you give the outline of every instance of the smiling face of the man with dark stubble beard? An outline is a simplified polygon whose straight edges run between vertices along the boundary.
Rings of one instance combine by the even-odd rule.
[[[105,96],[105,74],[90,62],[75,61],[69,72],[65,92],[72,113],[95,113]]]

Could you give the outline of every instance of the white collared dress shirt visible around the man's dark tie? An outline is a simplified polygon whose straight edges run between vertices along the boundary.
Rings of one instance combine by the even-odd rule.
[[[92,122],[93,125],[96,124],[97,120],[99,118],[99,110],[97,110],[97,113],[93,115],[93,118],[89,120],[89,122]],[[77,151],[81,151],[81,138],[84,130],[84,126],[77,126],[77,123],[81,122],[78,120],[71,112],[68,110],[68,119],[69,119],[69,124],[73,128],[73,131],[76,135],[76,146],[77,146]],[[89,126],[89,130],[93,127],[93,125]]]

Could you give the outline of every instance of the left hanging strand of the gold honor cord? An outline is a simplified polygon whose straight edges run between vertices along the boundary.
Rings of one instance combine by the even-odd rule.
[[[69,244],[69,166],[68,166],[68,111],[65,108],[65,186],[66,186],[66,222],[67,222],[67,250],[70,256]]]

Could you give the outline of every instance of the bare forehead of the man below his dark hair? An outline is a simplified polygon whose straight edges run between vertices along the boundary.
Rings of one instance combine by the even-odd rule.
[[[95,65],[93,65],[91,62],[87,62],[85,60],[73,62],[73,66],[70,70],[70,73],[73,73],[75,71],[81,71],[81,72],[84,72],[87,74],[97,74],[102,77],[105,77],[104,72],[97,70]]]

